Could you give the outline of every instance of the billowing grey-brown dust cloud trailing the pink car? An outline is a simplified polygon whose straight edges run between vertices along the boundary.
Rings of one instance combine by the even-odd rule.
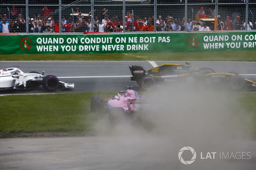
[[[133,117],[120,116],[113,121],[105,115],[95,122],[96,135],[106,141],[101,147],[109,148],[112,158],[107,169],[233,170],[255,166],[251,159],[220,159],[222,152],[250,152],[244,141],[251,137],[251,116],[240,107],[237,92],[161,86],[144,95],[150,104]],[[191,165],[179,160],[184,146],[196,151]],[[216,152],[215,159],[201,159],[208,152]],[[182,158],[190,160],[192,153],[184,151]]]

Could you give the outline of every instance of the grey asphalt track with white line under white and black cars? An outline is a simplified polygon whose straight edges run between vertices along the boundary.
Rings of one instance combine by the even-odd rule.
[[[128,66],[140,65],[145,70],[164,63],[185,63],[177,61],[1,61],[0,68],[17,67],[23,72],[37,71],[44,75],[57,76],[60,81],[75,83],[74,89],[58,89],[54,93],[68,92],[116,92],[125,90],[125,86],[134,86],[139,90],[135,81],[130,80]],[[216,72],[236,71],[244,78],[256,80],[256,62],[191,62],[191,69],[209,67]],[[0,91],[4,94],[33,94],[48,93],[40,86],[25,91]]]

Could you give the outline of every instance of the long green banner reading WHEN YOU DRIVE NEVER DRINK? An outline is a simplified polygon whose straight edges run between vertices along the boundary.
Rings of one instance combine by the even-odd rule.
[[[1,54],[250,51],[256,32],[0,35]]]

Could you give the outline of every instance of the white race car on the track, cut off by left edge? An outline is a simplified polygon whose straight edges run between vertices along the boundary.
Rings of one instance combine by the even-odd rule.
[[[0,70],[0,89],[29,89],[42,85],[48,92],[57,88],[74,88],[74,83],[64,83],[56,76],[44,76],[36,71],[24,73],[18,68]]]

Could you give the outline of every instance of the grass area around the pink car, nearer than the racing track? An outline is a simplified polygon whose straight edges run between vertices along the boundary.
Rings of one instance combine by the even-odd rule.
[[[0,96],[0,133],[92,132],[92,124],[97,118],[90,112],[93,94],[100,94],[105,99],[116,92]],[[232,96],[239,99],[239,103],[227,107],[234,110],[234,116],[241,115],[236,113],[239,107],[252,117],[250,130],[256,137],[256,93],[237,92]]]

